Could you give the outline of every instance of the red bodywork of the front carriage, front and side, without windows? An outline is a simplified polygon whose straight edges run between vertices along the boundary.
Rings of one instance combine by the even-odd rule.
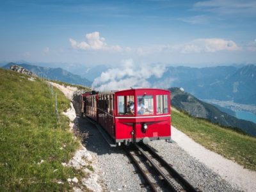
[[[137,96],[152,95],[154,103],[154,114],[150,115],[138,115],[137,110],[135,110],[135,115],[118,115],[117,113],[117,97],[134,95],[134,106],[137,106]],[[135,138],[168,138],[171,135],[170,125],[170,108],[168,108],[168,113],[157,114],[156,113],[156,95],[168,95],[168,103],[170,104],[170,92],[168,90],[161,89],[131,89],[123,90],[115,93],[113,97],[113,112],[112,109],[106,110],[105,106],[106,99],[111,99],[109,95],[99,94],[94,95],[94,99],[97,101],[97,108],[89,108],[86,106],[86,115],[90,116],[94,120],[97,120],[104,129],[109,133],[109,135],[115,140],[132,140],[132,131],[134,131]],[[92,97],[92,95],[86,95],[85,97]],[[98,102],[99,98],[99,102]],[[86,98],[88,99],[88,98]],[[105,100],[105,101],[102,101]],[[104,111],[102,111],[102,110]],[[109,113],[107,113],[107,111]],[[111,114],[113,115],[111,115]],[[147,124],[147,131],[143,130],[143,124]]]

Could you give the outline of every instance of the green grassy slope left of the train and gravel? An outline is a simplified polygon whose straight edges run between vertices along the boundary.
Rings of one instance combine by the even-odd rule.
[[[61,114],[69,101],[54,91]],[[47,84],[0,69],[0,191],[69,190],[67,178],[78,173],[61,162],[67,162],[79,145],[68,129],[67,117],[56,121]],[[41,160],[44,163],[38,164]]]

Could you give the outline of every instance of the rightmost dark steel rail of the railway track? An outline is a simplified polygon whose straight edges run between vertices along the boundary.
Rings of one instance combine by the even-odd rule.
[[[186,190],[186,191],[193,191],[196,192],[198,191],[196,188],[194,188],[189,182],[188,180],[186,180],[182,175],[180,175],[173,167],[172,165],[170,165],[169,163],[167,163],[163,157],[159,156],[159,154],[157,154],[150,146],[148,145],[144,145],[143,147],[145,147],[147,149],[147,151],[150,153],[150,155],[152,155],[153,157],[155,157],[157,160],[159,160],[159,163],[161,163],[162,166],[164,166],[164,168],[166,168],[166,170],[168,170],[168,172],[172,175],[173,178],[179,180],[179,183],[182,185],[182,187]]]

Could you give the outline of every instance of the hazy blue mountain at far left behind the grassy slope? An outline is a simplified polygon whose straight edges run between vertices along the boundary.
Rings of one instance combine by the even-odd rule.
[[[10,69],[11,65],[19,65],[20,67],[24,67],[31,72],[37,74],[44,74],[48,79],[63,81],[71,84],[81,84],[83,86],[92,86],[92,81],[89,81],[86,78],[81,76],[72,74],[67,70],[63,70],[62,68],[50,68],[50,67],[39,67],[36,65],[28,65],[28,64],[17,64],[17,63],[8,63],[4,65],[3,68]]]

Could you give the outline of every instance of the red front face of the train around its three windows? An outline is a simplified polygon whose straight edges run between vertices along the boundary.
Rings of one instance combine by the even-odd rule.
[[[115,94],[115,106],[117,106],[117,96],[120,95],[134,95],[134,106],[137,106],[136,98],[143,95],[152,95],[154,99],[154,114],[152,115],[138,115],[135,110],[134,118],[132,115],[118,115],[117,109],[115,109],[116,119],[116,140],[122,140],[132,138],[132,130],[134,130],[135,138],[158,138],[168,137],[171,135],[171,118],[170,108],[168,108],[167,114],[156,114],[156,95],[168,95],[168,103],[170,104],[170,91],[159,89],[136,89],[136,90],[124,90],[116,92]],[[143,118],[143,117],[150,118]],[[123,118],[122,118],[123,117]],[[141,117],[141,118],[140,118]],[[143,131],[143,124],[147,124],[147,131]]]

